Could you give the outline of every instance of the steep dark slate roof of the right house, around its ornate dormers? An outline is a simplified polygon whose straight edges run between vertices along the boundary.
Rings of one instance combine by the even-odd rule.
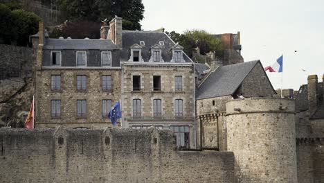
[[[134,44],[140,44],[140,41],[145,42],[145,46],[142,47],[142,58],[144,62],[148,62],[151,58],[150,48],[155,44],[159,44],[160,41],[164,42],[162,49],[162,58],[164,62],[170,62],[172,59],[172,46],[175,43],[162,31],[142,31],[142,30],[123,30],[123,50],[120,51],[120,60],[129,60],[130,58],[130,46]],[[183,53],[183,59],[186,62],[192,62],[186,54]]]

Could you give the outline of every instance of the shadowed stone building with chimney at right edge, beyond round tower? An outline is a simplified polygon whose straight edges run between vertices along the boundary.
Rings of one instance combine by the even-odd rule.
[[[324,181],[324,75],[308,76],[296,94],[298,182]]]

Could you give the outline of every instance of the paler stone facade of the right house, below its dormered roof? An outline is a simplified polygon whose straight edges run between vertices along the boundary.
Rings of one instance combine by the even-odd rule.
[[[159,126],[170,129],[170,126],[188,126],[190,147],[195,148],[195,103],[194,71],[192,63],[143,63],[123,62],[122,109],[123,128],[141,128]],[[141,76],[141,89],[133,90],[133,76]],[[153,77],[161,76],[161,89],[154,91]],[[174,88],[174,76],[181,76],[182,89]],[[133,116],[133,100],[141,100],[141,116]],[[153,100],[161,100],[161,116],[154,116]],[[174,101],[183,101],[183,114],[175,115]]]

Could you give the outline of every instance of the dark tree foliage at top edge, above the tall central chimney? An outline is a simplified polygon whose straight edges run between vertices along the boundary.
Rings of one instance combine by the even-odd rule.
[[[142,0],[57,0],[57,5],[69,21],[100,22],[118,16],[125,19],[123,28],[141,30]]]

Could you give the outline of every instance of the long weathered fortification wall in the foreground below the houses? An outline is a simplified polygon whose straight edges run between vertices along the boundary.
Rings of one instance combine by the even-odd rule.
[[[230,152],[178,152],[169,130],[0,128],[1,182],[233,182]]]

